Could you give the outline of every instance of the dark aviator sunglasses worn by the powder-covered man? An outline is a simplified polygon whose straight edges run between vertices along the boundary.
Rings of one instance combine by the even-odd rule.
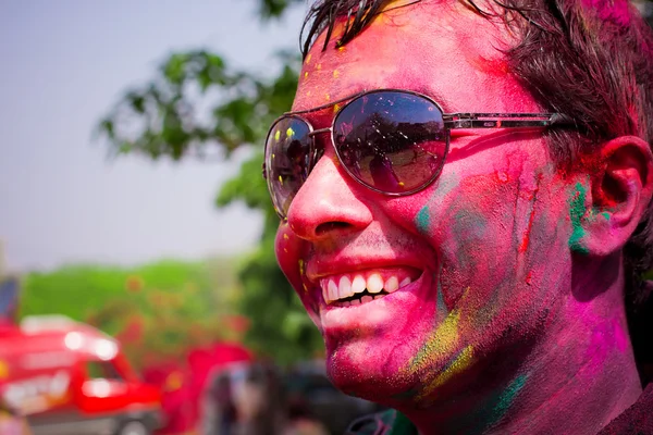
[[[341,103],[348,101],[340,108]],[[301,114],[334,108],[331,127],[313,129]],[[455,128],[533,128],[569,125],[558,113],[444,113],[428,96],[377,89],[309,110],[288,112],[270,127],[263,177],[279,216],[324,153],[316,136],[331,134],[345,171],[365,187],[389,196],[415,194],[433,183]]]

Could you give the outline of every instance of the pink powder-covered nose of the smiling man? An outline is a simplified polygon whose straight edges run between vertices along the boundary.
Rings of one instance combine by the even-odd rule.
[[[309,241],[365,229],[372,222],[372,211],[360,199],[366,194],[361,189],[366,188],[340,166],[333,149],[325,150],[288,209],[291,229]],[[370,190],[369,195],[375,194]]]

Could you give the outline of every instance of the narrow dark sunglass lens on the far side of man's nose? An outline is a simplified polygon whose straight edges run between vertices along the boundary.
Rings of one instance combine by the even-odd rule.
[[[266,141],[266,178],[276,212],[287,215],[291,202],[310,171],[310,127],[299,117],[279,120]]]

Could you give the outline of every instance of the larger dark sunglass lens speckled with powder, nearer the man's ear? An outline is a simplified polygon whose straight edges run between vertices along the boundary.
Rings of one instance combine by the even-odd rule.
[[[387,194],[417,191],[440,173],[446,153],[442,111],[402,91],[366,94],[336,116],[334,141],[347,171]]]

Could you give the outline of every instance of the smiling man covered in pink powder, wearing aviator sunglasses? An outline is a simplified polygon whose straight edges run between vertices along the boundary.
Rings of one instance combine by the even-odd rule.
[[[627,310],[652,266],[653,37],[634,9],[323,0],[310,18],[264,173],[331,380],[396,410],[357,428],[648,433]]]

